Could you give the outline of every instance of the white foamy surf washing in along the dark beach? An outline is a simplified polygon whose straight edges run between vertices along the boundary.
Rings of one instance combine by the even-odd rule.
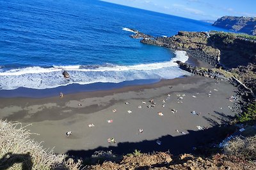
[[[119,83],[129,80],[172,79],[189,75],[177,66],[175,60],[188,60],[186,52],[175,51],[176,57],[168,62],[138,64],[134,66],[101,66],[84,69],[81,66],[54,66],[51,68],[27,67],[0,72],[0,89],[11,90],[19,87],[49,89],[72,83]],[[67,70],[70,78],[63,78],[62,71]]]

